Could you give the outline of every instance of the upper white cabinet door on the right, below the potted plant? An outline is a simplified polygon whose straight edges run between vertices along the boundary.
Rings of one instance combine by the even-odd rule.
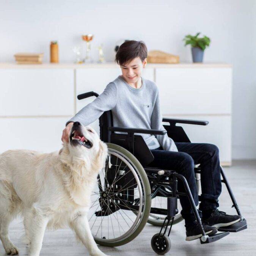
[[[230,114],[231,68],[157,68],[163,114]]]

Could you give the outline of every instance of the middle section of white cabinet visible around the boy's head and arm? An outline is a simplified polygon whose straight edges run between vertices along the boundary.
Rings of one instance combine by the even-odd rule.
[[[90,69],[77,69],[76,70],[76,95],[94,91],[101,94],[108,83],[115,80],[121,75],[121,69],[117,68],[90,68]],[[145,68],[143,70],[143,77],[145,79],[154,80],[154,69]],[[82,109],[95,99],[90,97],[88,99],[76,99],[76,112]],[[99,133],[99,121],[94,121],[91,126]]]

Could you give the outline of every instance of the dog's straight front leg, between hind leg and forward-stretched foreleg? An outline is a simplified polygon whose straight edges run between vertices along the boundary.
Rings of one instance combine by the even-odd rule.
[[[35,209],[33,210],[30,226],[27,229],[30,237],[28,256],[39,256],[48,220],[44,215],[39,214]]]

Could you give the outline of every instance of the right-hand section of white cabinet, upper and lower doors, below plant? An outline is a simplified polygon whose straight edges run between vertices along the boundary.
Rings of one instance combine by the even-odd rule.
[[[208,126],[184,126],[192,142],[216,144],[222,165],[231,165],[232,69],[156,68],[162,115],[209,121]]]

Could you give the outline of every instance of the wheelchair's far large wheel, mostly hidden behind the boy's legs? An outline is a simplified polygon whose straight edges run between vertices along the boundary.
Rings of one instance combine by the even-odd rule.
[[[196,179],[196,185],[197,185],[197,191],[198,193],[200,192],[200,174],[196,173],[195,174],[195,179]],[[165,192],[171,192],[171,188],[165,187],[163,188]],[[161,191],[161,190],[160,190]],[[161,193],[161,192],[159,192]],[[151,206],[152,207],[157,207],[157,208],[162,208],[162,209],[167,209],[167,198],[164,196],[155,196],[154,198],[151,199]],[[174,220],[173,220],[173,225],[181,222],[183,220],[181,216],[181,205],[178,200],[178,210],[179,213],[175,215]],[[162,227],[163,221],[165,220],[165,216],[160,215],[160,214],[149,214],[148,217],[148,223],[153,225],[153,226],[160,226]],[[167,224],[167,221],[166,221]],[[169,223],[171,225],[171,222]],[[166,225],[165,225],[166,226]]]

